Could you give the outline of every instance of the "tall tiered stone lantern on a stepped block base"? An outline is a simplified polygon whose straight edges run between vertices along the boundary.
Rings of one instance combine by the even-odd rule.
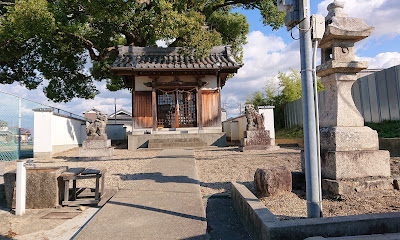
[[[348,17],[343,7],[336,0],[328,5],[319,44],[317,75],[329,103],[320,113],[322,187],[336,194],[391,188],[389,152],[379,150],[377,132],[364,126],[351,95],[357,73],[368,67],[368,62],[355,61],[354,43],[374,28]]]

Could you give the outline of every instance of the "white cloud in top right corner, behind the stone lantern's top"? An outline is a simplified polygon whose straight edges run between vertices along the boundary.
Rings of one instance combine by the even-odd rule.
[[[327,15],[326,7],[333,2],[324,0],[318,4],[318,14]],[[400,35],[399,0],[341,0],[344,12],[350,17],[362,18],[374,26],[373,36],[395,37]]]

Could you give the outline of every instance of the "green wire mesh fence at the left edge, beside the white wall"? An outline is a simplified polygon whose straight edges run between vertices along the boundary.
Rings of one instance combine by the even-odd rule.
[[[52,108],[57,114],[84,119],[81,116],[29,99],[0,91],[0,162],[33,157],[34,112]]]

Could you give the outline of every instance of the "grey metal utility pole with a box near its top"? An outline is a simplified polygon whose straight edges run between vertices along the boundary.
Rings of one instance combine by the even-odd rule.
[[[278,0],[278,10],[286,12],[288,30],[299,25],[301,84],[303,93],[304,159],[306,175],[307,216],[322,215],[320,168],[318,160],[316,107],[313,89],[310,0]],[[317,96],[315,96],[317,97]]]

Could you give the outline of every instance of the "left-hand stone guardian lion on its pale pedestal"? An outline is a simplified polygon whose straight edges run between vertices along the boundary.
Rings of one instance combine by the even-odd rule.
[[[97,109],[89,112],[95,113],[96,117],[86,120],[87,138],[82,143],[82,149],[79,150],[79,157],[88,160],[110,159],[114,155],[114,148],[111,147],[111,140],[107,138],[107,114]]]

